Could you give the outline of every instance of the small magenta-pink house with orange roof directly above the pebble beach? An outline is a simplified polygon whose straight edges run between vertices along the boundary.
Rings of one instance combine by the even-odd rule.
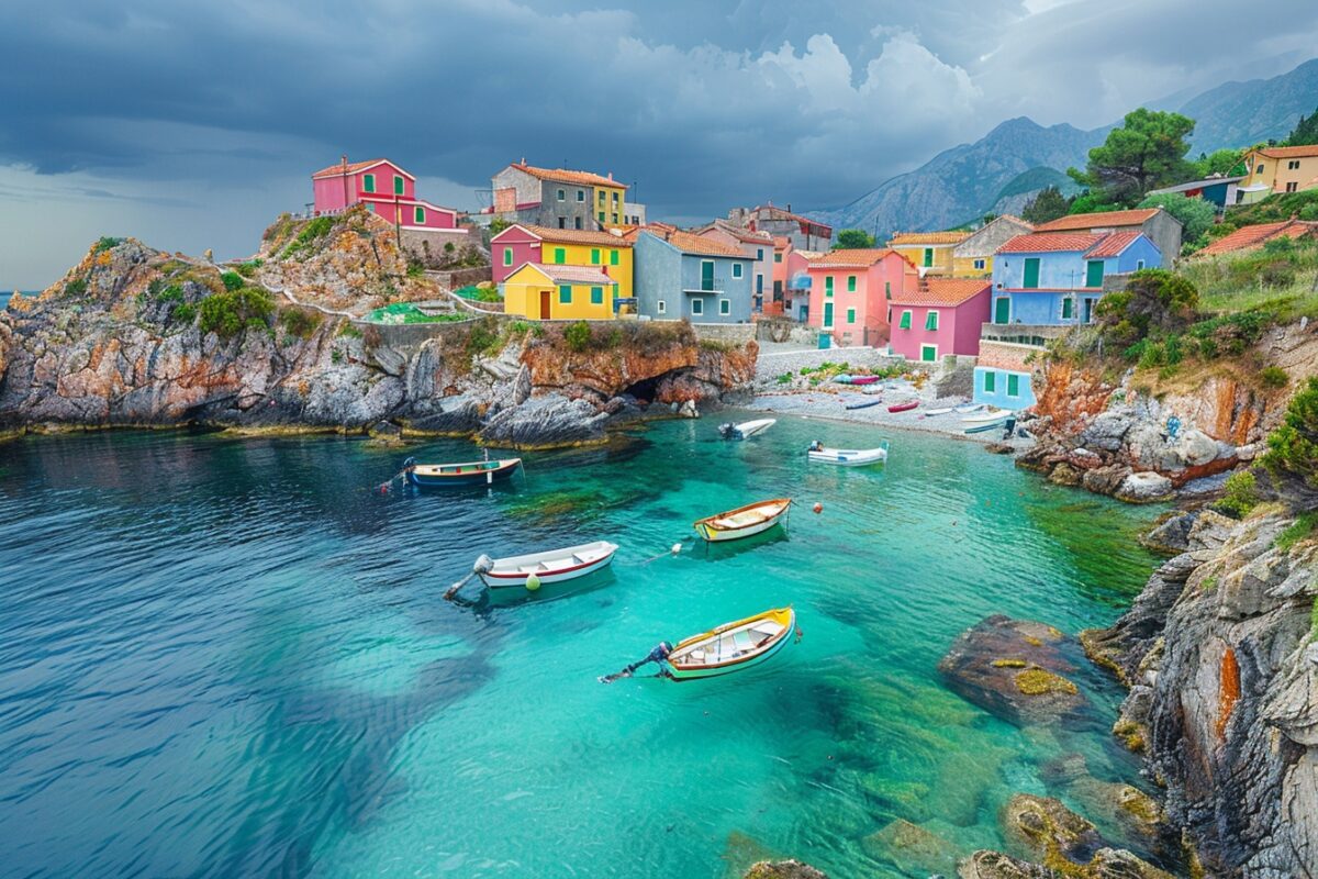
[[[992,285],[987,278],[924,278],[892,295],[888,323],[892,351],[907,360],[937,361],[948,354],[979,354],[979,331],[988,323]]]

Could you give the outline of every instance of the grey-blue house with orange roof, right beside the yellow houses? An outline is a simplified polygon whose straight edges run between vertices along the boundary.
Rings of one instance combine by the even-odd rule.
[[[654,320],[747,323],[755,258],[667,225],[641,229],[633,249],[637,314]]]

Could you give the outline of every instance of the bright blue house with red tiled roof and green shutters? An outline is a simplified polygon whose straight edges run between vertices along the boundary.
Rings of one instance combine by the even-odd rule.
[[[1090,323],[1104,278],[1161,265],[1162,254],[1143,232],[1017,235],[994,254],[992,323]]]

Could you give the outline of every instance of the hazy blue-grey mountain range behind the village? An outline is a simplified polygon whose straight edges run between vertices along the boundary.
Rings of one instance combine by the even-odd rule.
[[[1315,104],[1318,58],[1272,79],[1224,83],[1174,109],[1195,120],[1191,156],[1198,156],[1285,137]],[[916,170],[884,181],[850,204],[807,213],[834,229],[858,228],[886,237],[895,231],[954,228],[988,212],[1019,212],[1049,182],[1065,182],[1069,188],[1064,191],[1074,191],[1062,171],[1083,166],[1089,150],[1112,128],[1044,128],[1021,116],[974,144],[953,146]]]

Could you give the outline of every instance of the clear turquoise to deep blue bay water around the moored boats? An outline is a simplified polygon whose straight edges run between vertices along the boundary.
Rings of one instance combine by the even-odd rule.
[[[1078,673],[1091,723],[1021,730],[934,666],[990,613],[1114,619],[1152,510],[929,435],[714,427],[527,455],[465,494],[372,493],[403,453],[339,438],[0,445],[0,874],[718,878],[780,854],[923,876],[866,837],[905,818],[1000,845],[1012,792],[1066,796],[1062,755],[1133,779],[1102,675]],[[892,460],[808,468],[815,436]],[[776,496],[803,502],[786,538],[646,563]],[[622,548],[583,592],[440,600],[481,552],[597,538]],[[760,669],[596,681],[789,602],[804,638]]]

